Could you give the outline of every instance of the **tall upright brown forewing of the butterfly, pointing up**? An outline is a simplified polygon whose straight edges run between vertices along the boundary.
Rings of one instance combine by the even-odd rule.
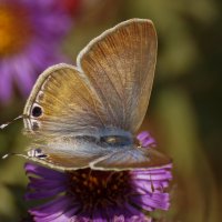
[[[113,125],[133,133],[141,125],[155,58],[155,30],[150,20],[143,19],[118,24],[80,52],[78,65],[108,108],[107,115]]]

